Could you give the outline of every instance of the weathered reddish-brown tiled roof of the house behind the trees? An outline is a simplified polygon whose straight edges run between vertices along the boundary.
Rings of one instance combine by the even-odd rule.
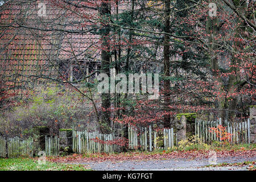
[[[38,4],[42,2],[46,4],[46,16],[38,14],[40,8]],[[26,81],[36,79],[37,76],[55,78],[59,76],[56,71],[59,69],[59,62],[70,64],[76,61],[100,60],[100,36],[88,31],[93,27],[93,22],[99,23],[97,11],[86,9],[84,17],[81,17],[76,13],[71,13],[70,10],[61,9],[61,5],[54,3],[52,0],[37,2],[12,0],[1,7],[1,26],[11,26],[6,26],[6,29],[1,30],[0,79],[8,77],[11,82],[19,82],[17,80]],[[130,8],[129,4],[123,3],[123,6],[119,7],[119,13],[127,6]],[[79,9],[78,11],[84,10]],[[16,22],[21,27],[17,28]],[[142,40],[142,38],[134,36],[133,40],[136,39]],[[123,39],[123,44],[125,41]],[[151,48],[151,44],[146,46]],[[160,57],[161,47],[155,50],[155,47],[152,46],[151,49]],[[144,52],[141,58],[136,58],[133,61],[142,63],[142,59],[147,62],[151,57]],[[160,58],[156,59],[156,61],[159,60]],[[88,64],[86,65],[88,66]],[[149,66],[146,69],[151,68],[153,67]],[[134,67],[134,69],[138,69],[137,71],[140,72],[142,65]],[[63,70],[67,71],[67,69]],[[63,75],[67,76],[67,73],[63,73]],[[13,84],[11,82],[10,84]],[[26,82],[18,85],[24,84]]]

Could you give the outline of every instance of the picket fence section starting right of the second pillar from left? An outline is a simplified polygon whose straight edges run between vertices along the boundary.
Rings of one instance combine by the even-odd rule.
[[[108,143],[112,140],[114,140],[114,134],[73,130],[73,152],[79,154],[87,152],[114,153],[114,144]]]

